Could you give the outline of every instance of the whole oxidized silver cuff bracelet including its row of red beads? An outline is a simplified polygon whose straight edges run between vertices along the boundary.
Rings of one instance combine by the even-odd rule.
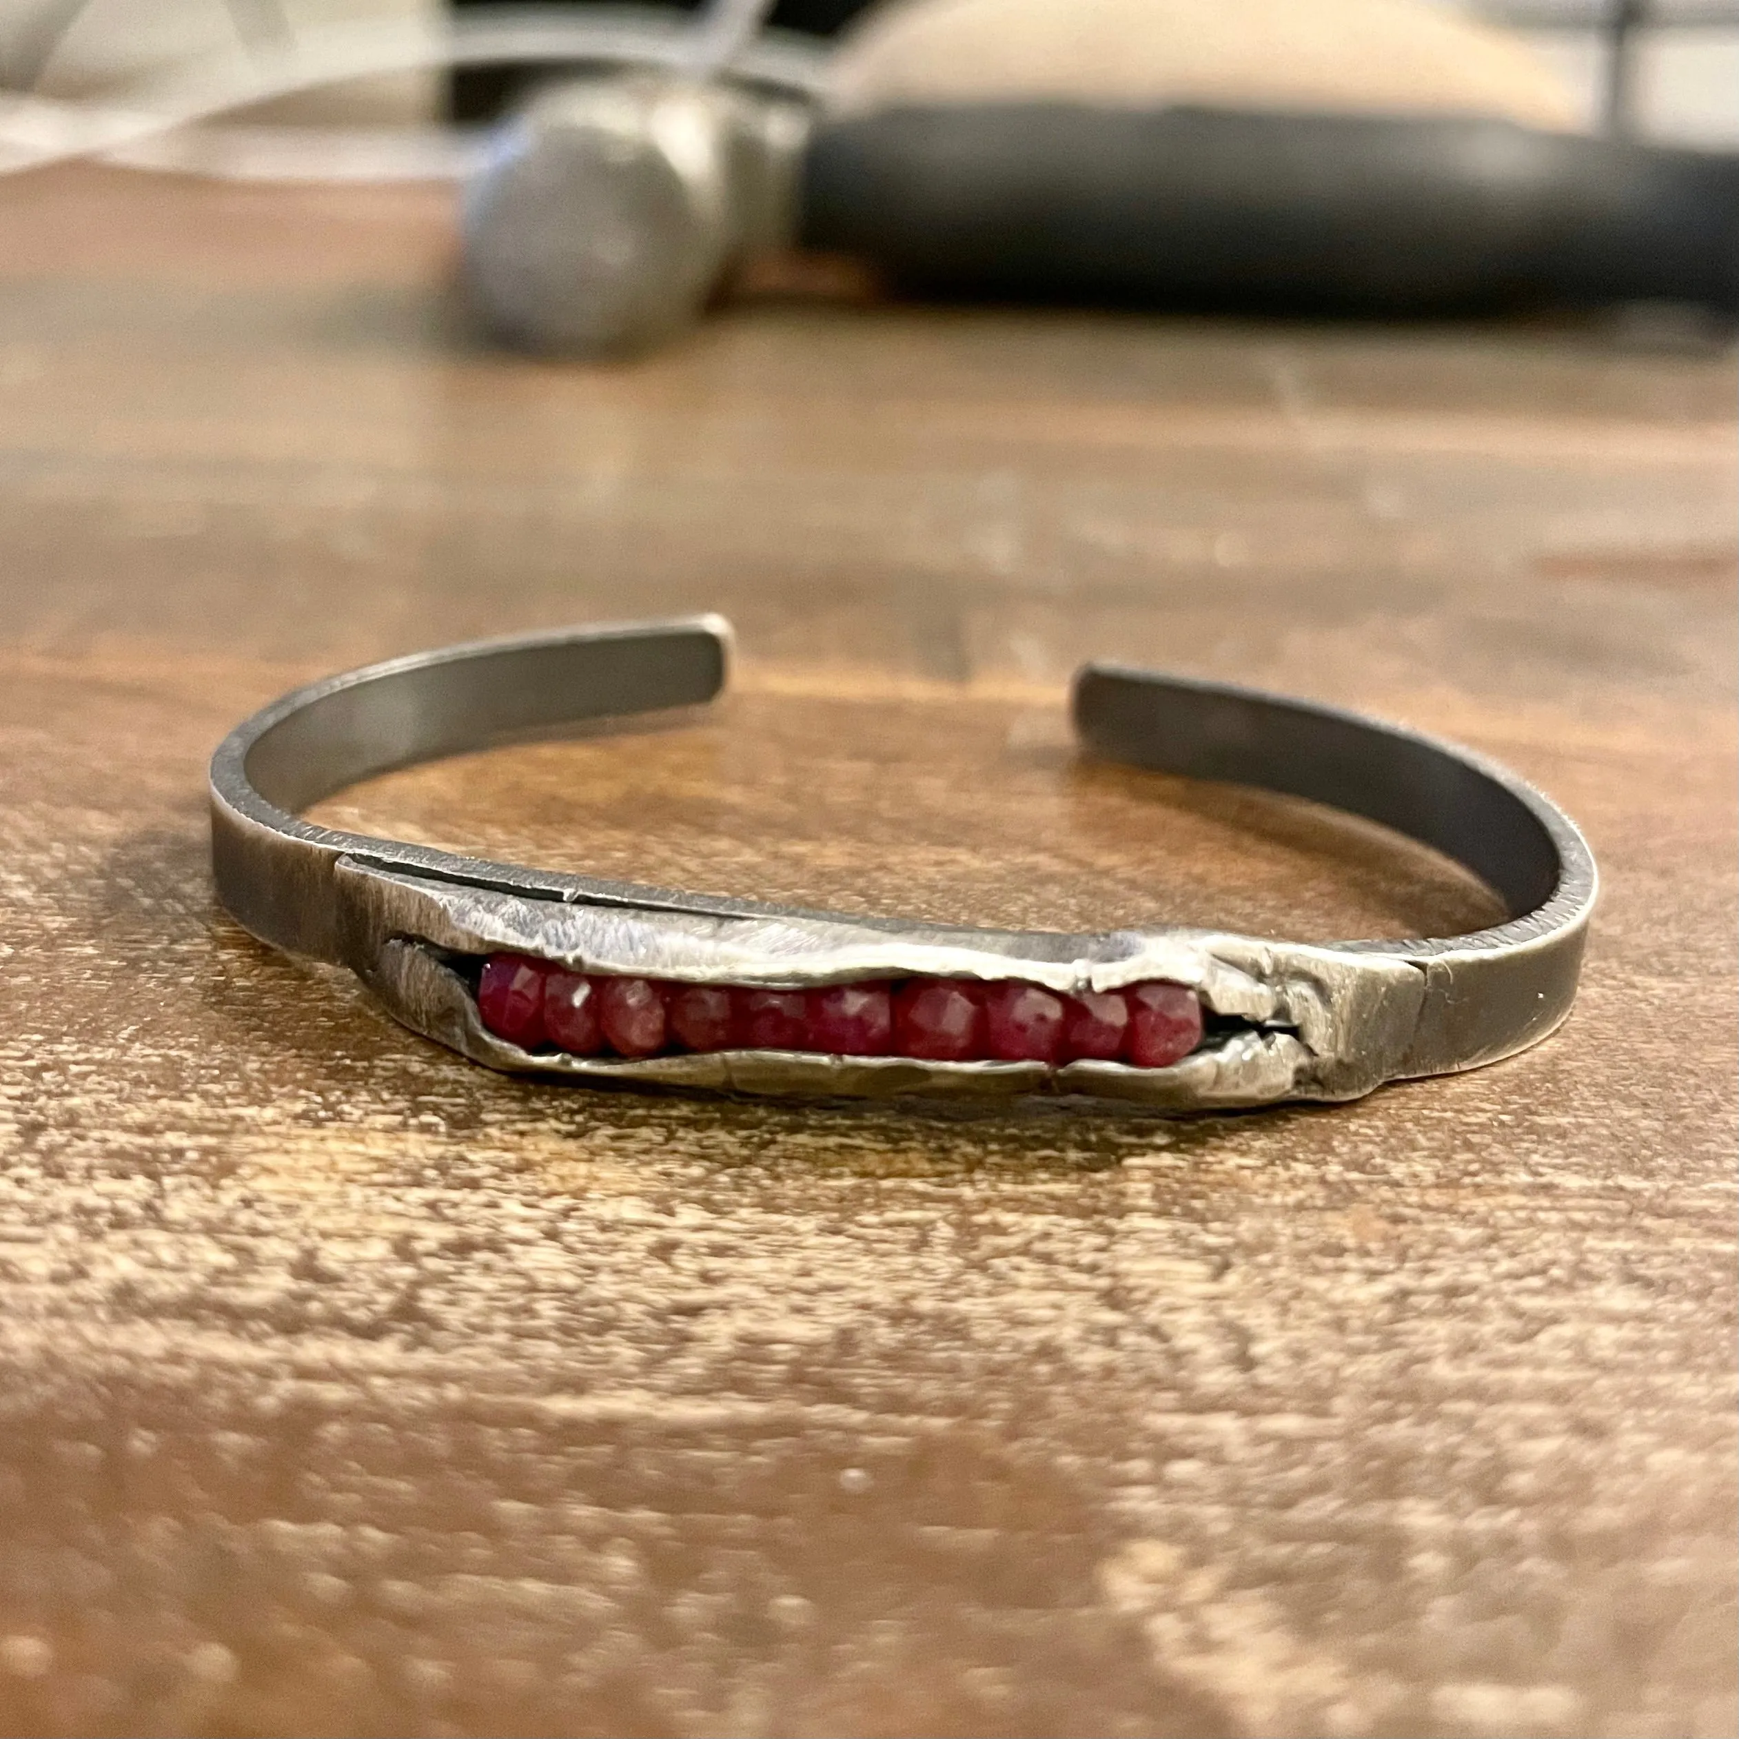
[[[718,617],[449,647],[297,689],[210,769],[217,894],[261,941],[351,967],[417,1033],[576,1082],[753,1094],[1092,1094],[1172,1109],[1353,1099],[1508,1057],[1576,998],[1595,863],[1515,774],[1273,694],[1089,664],[1097,755],[1329,803],[1504,901],[1473,936],[1308,946],[852,918],[553,875],[296,812],[391,767],[711,701]]]

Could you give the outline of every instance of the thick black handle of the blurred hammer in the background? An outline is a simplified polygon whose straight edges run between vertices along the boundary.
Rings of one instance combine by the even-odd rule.
[[[800,212],[927,296],[1739,308],[1739,158],[1502,120],[889,110],[817,127]]]

